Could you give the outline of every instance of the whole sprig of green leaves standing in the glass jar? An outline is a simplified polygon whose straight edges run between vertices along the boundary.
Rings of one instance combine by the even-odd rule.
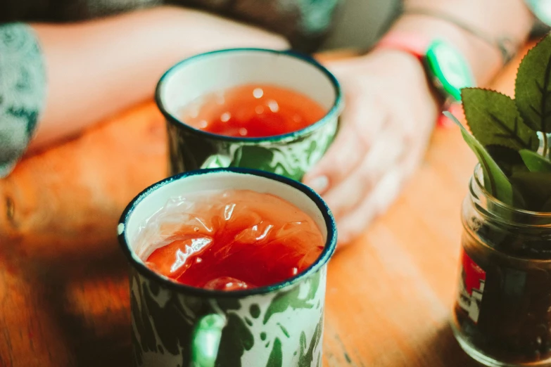
[[[528,51],[517,71],[515,98],[462,89],[470,129],[450,112],[483,171],[484,187],[519,209],[551,211],[551,37]]]

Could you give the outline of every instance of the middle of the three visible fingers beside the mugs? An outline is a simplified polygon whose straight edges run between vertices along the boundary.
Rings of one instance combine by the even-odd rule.
[[[395,129],[382,131],[355,171],[324,194],[334,215],[341,217],[360,205],[381,177],[399,165],[407,148]]]

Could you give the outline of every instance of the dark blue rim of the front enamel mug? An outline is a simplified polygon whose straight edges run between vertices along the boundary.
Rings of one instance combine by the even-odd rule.
[[[325,242],[324,250],[316,259],[316,261],[311,266],[308,267],[308,269],[305,269],[305,271],[298,273],[296,276],[286,279],[286,281],[276,283],[273,285],[267,285],[264,287],[251,288],[248,290],[235,290],[235,291],[206,290],[203,288],[196,288],[190,285],[176,283],[175,281],[170,281],[170,279],[165,278],[164,276],[161,276],[160,274],[152,271],[143,262],[139,262],[137,261],[137,259],[134,258],[133,252],[129,246],[129,240],[127,240],[127,237],[126,237],[126,233],[127,233],[126,227],[127,227],[127,222],[132,216],[132,213],[134,212],[134,210],[136,210],[137,206],[142,200],[144,200],[144,198],[146,198],[148,195],[153,193],[153,191],[156,191],[159,188],[162,188],[163,186],[170,184],[174,181],[186,179],[186,177],[190,177],[190,176],[200,176],[203,174],[217,174],[222,172],[230,172],[235,174],[250,174],[253,176],[262,176],[267,179],[279,181],[283,184],[296,188],[298,191],[307,195],[308,198],[310,198],[310,200],[315,202],[315,205],[317,206],[319,211],[322,212],[322,215],[324,217],[325,225],[327,228],[327,240]],[[131,202],[129,202],[129,204],[127,205],[127,207],[125,208],[125,210],[122,212],[120,216],[118,228],[121,228],[121,226],[122,226],[122,230],[119,229],[118,231],[119,245],[122,249],[122,252],[125,254],[129,263],[134,269],[137,269],[137,271],[139,271],[139,273],[141,273],[142,276],[145,276],[150,280],[153,280],[162,284],[165,288],[168,288],[170,290],[174,290],[180,293],[196,295],[198,297],[241,298],[241,297],[248,297],[253,295],[265,295],[267,293],[276,292],[284,288],[290,288],[292,285],[296,285],[301,281],[303,281],[304,279],[309,278],[314,273],[319,271],[319,269],[322,269],[322,266],[324,266],[325,264],[327,264],[327,262],[329,262],[329,259],[335,252],[336,240],[337,240],[336,223],[335,223],[333,214],[331,213],[331,210],[329,210],[329,207],[324,202],[324,200],[311,188],[293,179],[288,179],[284,176],[279,176],[278,174],[272,174],[270,172],[260,171],[258,169],[247,169],[247,168],[236,168],[236,167],[197,169],[194,171],[184,172],[182,174],[176,174],[175,176],[170,176],[167,179],[158,181],[156,184],[153,184],[148,188],[144,189],[144,191],[141,191],[141,193],[139,193],[134,199],[132,199]]]

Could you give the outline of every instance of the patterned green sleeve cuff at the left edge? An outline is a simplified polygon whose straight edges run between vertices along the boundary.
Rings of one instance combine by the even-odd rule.
[[[0,178],[25,152],[45,93],[44,61],[32,28],[0,24]]]

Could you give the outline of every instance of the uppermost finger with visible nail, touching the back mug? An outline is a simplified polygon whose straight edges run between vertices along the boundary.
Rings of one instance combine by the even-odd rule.
[[[336,186],[360,164],[378,131],[384,126],[386,115],[374,103],[358,103],[350,98],[343,113],[341,131],[334,143],[303,182],[318,193]]]

